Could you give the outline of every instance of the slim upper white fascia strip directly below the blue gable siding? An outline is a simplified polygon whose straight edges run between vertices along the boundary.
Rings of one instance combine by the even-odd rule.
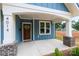
[[[6,5],[10,5],[10,6],[15,6],[15,7],[20,7],[20,8],[25,8],[25,9],[32,9],[32,10],[39,10],[39,11],[45,11],[45,12],[52,12],[52,13],[58,13],[58,14],[62,14],[62,15],[66,15],[66,16],[71,16],[70,12],[65,12],[65,11],[60,11],[60,10],[56,10],[56,9],[50,9],[50,8],[45,8],[45,7],[40,7],[40,6],[35,6],[35,5],[31,5],[31,4],[10,4],[10,3],[6,3]]]

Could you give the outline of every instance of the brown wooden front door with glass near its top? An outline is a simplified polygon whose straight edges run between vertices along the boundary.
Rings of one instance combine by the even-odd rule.
[[[31,24],[23,24],[23,40],[30,41],[31,39]]]

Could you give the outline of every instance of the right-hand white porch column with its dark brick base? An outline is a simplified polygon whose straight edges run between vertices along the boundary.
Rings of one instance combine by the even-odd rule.
[[[72,37],[72,22],[71,19],[66,21],[66,36],[63,38],[63,44],[69,47],[75,46],[75,40]]]

